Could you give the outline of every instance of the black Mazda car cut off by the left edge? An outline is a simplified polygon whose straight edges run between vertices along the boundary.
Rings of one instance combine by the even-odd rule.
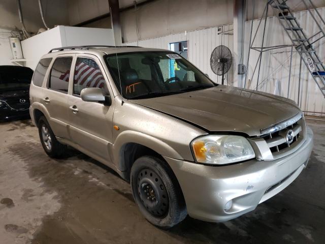
[[[0,120],[29,116],[29,85],[33,71],[21,66],[0,66]]]

